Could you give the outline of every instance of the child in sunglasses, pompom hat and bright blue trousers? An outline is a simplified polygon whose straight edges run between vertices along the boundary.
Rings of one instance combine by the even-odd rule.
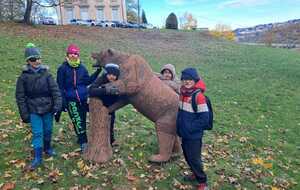
[[[25,49],[27,65],[16,85],[16,100],[20,116],[31,124],[34,159],[28,169],[42,164],[43,147],[48,156],[54,156],[51,147],[53,113],[61,109],[62,99],[58,86],[48,67],[41,65],[39,50],[29,43]]]

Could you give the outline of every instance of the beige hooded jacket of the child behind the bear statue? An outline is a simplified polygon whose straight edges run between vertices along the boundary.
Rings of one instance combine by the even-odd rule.
[[[164,76],[162,75],[162,73],[165,69],[168,69],[172,73],[172,76],[173,76],[172,80],[166,80],[164,78]],[[164,65],[160,70],[160,74],[158,74],[158,78],[160,80],[162,80],[166,85],[171,87],[177,94],[179,94],[179,92],[180,92],[180,81],[176,78],[176,70],[175,70],[174,65],[172,65],[172,64]]]

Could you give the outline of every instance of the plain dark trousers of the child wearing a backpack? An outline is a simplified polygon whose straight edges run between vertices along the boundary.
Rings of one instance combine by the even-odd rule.
[[[201,160],[202,139],[189,140],[182,139],[182,150],[187,164],[196,176],[199,183],[206,183],[207,176],[203,171]]]

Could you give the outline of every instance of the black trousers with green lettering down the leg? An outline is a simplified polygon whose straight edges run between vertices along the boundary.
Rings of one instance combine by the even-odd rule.
[[[86,136],[86,112],[87,103],[68,102],[68,113],[72,120],[78,144],[87,143]]]

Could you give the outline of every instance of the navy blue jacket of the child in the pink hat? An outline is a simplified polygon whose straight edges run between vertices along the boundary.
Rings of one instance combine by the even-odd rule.
[[[71,67],[65,61],[57,70],[57,83],[61,91],[64,106],[67,101],[85,103],[88,97],[87,86],[96,80],[100,70],[91,76],[85,66],[80,63],[78,67]]]

